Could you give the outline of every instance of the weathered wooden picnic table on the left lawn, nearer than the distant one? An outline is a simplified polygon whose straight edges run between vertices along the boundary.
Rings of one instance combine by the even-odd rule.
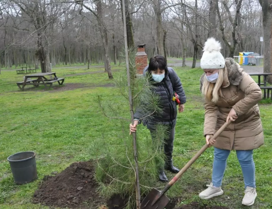
[[[45,77],[45,76],[50,76],[50,75],[54,75],[54,78],[47,79]],[[36,79],[28,80],[29,78],[36,78]],[[64,82],[64,78],[58,78],[56,76],[56,72],[36,73],[36,74],[32,74],[32,75],[25,75],[25,80],[21,81],[21,82],[17,82],[16,84],[20,88],[20,90],[23,91],[26,85],[33,85],[33,86],[38,87],[39,85],[43,84],[46,89],[49,89],[53,85],[54,82],[58,82],[59,85],[62,85]],[[22,87],[21,87],[21,85],[22,85]]]

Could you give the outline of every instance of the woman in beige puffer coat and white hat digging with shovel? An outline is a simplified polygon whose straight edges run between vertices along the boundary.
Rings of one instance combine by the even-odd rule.
[[[221,45],[214,38],[205,43],[200,61],[204,71],[200,89],[205,98],[204,136],[209,139],[226,121],[232,123],[210,143],[214,146],[212,182],[199,196],[209,199],[223,194],[222,178],[231,150],[236,150],[245,183],[243,205],[253,205],[255,164],[253,149],[264,144],[258,102],[262,91],[258,84],[232,58],[224,59]]]

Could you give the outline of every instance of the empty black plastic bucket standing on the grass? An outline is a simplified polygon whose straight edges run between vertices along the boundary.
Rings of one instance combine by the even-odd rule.
[[[35,156],[35,152],[26,151],[7,158],[16,184],[26,184],[38,178]]]

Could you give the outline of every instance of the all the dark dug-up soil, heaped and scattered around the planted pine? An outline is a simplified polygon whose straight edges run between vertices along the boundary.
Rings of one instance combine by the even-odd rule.
[[[81,209],[124,209],[127,197],[114,195],[109,200],[101,197],[94,179],[94,163],[92,161],[76,162],[55,176],[45,176],[43,183],[35,191],[33,202],[61,208]],[[144,196],[142,197],[144,198]],[[82,204],[83,203],[83,204]],[[172,199],[166,209],[173,209],[178,199]],[[136,206],[135,206],[136,208]],[[179,209],[229,209],[220,206],[199,206],[197,202],[182,205]]]

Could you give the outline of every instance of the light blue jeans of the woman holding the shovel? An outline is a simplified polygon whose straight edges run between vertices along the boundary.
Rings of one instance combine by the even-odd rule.
[[[214,148],[212,182],[215,187],[220,187],[222,184],[229,154],[230,150]],[[256,188],[253,150],[237,150],[236,155],[242,168],[245,188],[247,186]]]

